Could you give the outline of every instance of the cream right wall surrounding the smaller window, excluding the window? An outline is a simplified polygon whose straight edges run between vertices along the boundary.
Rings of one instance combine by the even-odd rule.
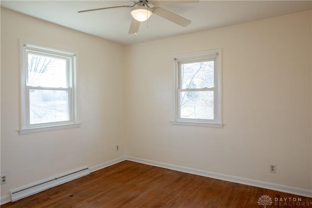
[[[309,11],[127,46],[126,154],[311,189],[311,38]],[[172,126],[171,56],[215,48],[224,128]]]

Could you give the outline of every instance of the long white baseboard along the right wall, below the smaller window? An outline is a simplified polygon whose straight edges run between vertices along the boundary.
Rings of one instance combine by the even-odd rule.
[[[177,170],[177,171],[191,173],[191,174],[195,174],[195,175],[201,175],[201,176],[205,176],[205,177],[209,177],[209,178],[215,178],[215,179],[230,181],[230,182],[234,182],[234,183],[239,183],[239,184],[264,188],[264,189],[271,189],[271,190],[277,190],[277,191],[286,192],[286,193],[292,193],[292,194],[296,194],[296,195],[300,195],[300,196],[312,197],[312,190],[309,190],[309,189],[301,189],[301,188],[296,188],[296,187],[290,187],[290,186],[285,186],[285,185],[280,185],[280,184],[264,182],[264,181],[257,181],[257,180],[253,180],[253,179],[241,178],[241,177],[237,177],[237,176],[215,173],[215,172],[210,172],[210,171],[206,171],[206,170],[186,168],[186,167],[182,167],[182,166],[176,166],[176,165],[171,165],[171,164],[167,164],[167,163],[161,163],[161,162],[156,162],[156,161],[152,161],[152,160],[141,159],[141,158],[137,158],[137,157],[127,156],[126,158],[127,158],[126,160],[129,160],[129,161],[142,163],[142,164],[146,164],[146,165],[151,165],[151,166],[156,166],[156,167],[160,167],[160,168]]]

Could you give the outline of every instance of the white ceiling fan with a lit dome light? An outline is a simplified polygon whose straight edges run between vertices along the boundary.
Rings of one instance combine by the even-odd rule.
[[[130,14],[132,15],[132,21],[130,24],[128,34],[135,34],[137,35],[138,28],[140,26],[141,21],[145,21],[151,17],[152,14],[156,14],[164,19],[168,19],[182,27],[186,27],[191,23],[191,20],[185,19],[175,13],[172,13],[166,9],[158,7],[158,5],[165,5],[165,4],[180,4],[180,3],[197,3],[199,0],[133,0],[134,4],[132,6],[125,5],[125,6],[112,6],[112,7],[104,7],[98,9],[89,9],[89,10],[82,10],[81,12],[92,12],[102,9],[114,9],[120,7],[132,8]],[[150,7],[149,4],[154,5]]]

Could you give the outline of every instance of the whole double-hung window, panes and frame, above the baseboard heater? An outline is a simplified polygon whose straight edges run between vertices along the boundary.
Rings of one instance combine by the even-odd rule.
[[[20,134],[79,127],[74,54],[20,40]]]

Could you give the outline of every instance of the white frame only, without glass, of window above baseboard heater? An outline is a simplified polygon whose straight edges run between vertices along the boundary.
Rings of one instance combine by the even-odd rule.
[[[28,76],[28,54],[48,55],[49,57],[61,57],[66,59],[67,84],[66,88],[52,87],[33,87],[27,86]],[[51,47],[46,47],[37,43],[29,42],[20,39],[20,134],[48,132],[55,130],[63,130],[70,128],[78,128],[81,123],[77,122],[76,111],[76,62],[77,56],[75,53],[64,52]],[[29,106],[29,90],[62,90],[69,93],[69,120],[60,122],[30,124],[30,106]]]

